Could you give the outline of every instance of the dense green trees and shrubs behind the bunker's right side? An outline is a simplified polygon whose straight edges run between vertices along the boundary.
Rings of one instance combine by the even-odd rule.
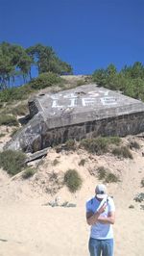
[[[99,86],[121,90],[130,97],[144,101],[144,65],[139,62],[132,66],[125,65],[119,72],[114,64],[109,64],[106,69],[97,69],[92,79]]]

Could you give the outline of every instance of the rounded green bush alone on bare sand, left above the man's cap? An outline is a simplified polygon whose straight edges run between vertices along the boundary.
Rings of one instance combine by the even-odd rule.
[[[64,174],[64,184],[70,192],[76,192],[81,189],[83,180],[76,169],[68,169]]]

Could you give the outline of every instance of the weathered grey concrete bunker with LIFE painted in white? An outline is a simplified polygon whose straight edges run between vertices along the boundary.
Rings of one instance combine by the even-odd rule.
[[[96,85],[41,94],[29,102],[29,108],[32,119],[6,148],[36,152],[68,139],[144,131],[141,101]]]

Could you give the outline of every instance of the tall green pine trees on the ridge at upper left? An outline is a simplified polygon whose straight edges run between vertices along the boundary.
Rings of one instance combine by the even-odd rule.
[[[32,79],[31,68],[36,65],[38,74],[52,71],[70,74],[70,64],[62,62],[50,46],[36,44],[28,49],[9,42],[0,43],[0,90],[14,87],[15,78],[22,77],[24,84]]]

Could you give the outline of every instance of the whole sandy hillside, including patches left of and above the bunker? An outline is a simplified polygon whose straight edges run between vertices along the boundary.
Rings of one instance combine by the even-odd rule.
[[[86,83],[89,77],[62,79],[68,89]],[[37,90],[33,95],[53,90],[60,90],[59,85]],[[19,120],[28,114],[25,107],[23,112],[19,111],[20,106],[26,105],[27,99],[3,103],[1,116],[13,112]],[[13,124],[0,125],[0,151],[15,129],[23,125]],[[36,173],[28,179],[23,178],[23,172],[10,176],[0,168],[0,255],[88,255],[85,201],[94,194],[96,184],[106,182],[116,205],[115,256],[143,256],[144,201],[135,202],[133,198],[144,192],[144,138],[128,136],[121,139],[121,144],[129,148],[132,159],[117,157],[111,151],[101,155],[89,153],[77,145],[75,150],[60,149],[59,153],[56,147],[49,148],[45,158],[29,164],[36,168]],[[83,180],[82,188],[74,193],[63,184],[69,168],[76,169]],[[112,173],[117,180],[100,179],[99,169]],[[59,205],[52,207],[56,202]],[[66,207],[66,202],[71,207]]]

